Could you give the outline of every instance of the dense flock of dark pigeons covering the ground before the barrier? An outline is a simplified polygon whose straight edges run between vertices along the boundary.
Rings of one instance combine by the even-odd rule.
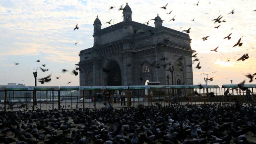
[[[1,144],[256,144],[256,104],[1,112]]]

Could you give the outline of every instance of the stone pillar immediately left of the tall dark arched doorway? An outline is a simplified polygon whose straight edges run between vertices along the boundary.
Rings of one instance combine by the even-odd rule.
[[[102,63],[100,58],[94,59],[94,61],[92,62],[92,72],[93,72],[93,86],[101,86]]]

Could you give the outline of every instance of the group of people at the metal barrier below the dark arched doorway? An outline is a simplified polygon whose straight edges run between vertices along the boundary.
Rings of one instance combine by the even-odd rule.
[[[107,99],[108,104],[111,106],[112,95],[110,94],[110,91],[109,90],[108,91],[104,91],[103,95]],[[132,96],[132,91],[130,90],[130,92],[129,92],[129,99],[128,99],[128,102],[129,102],[130,106],[132,105],[132,98],[131,98],[131,96]],[[116,90],[115,94],[113,96],[113,102],[114,103],[120,103],[121,102],[121,106],[123,104],[124,104],[124,106],[126,106],[126,100],[125,100],[126,98],[127,98],[127,96],[126,96],[126,93],[124,91],[120,92],[120,94],[119,94],[119,91]],[[104,104],[106,104],[105,100],[104,100]]]

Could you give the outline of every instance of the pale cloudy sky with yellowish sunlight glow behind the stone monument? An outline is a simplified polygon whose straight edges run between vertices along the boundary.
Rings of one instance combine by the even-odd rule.
[[[256,84],[255,79],[249,83],[245,76],[256,72],[256,0],[200,0],[198,6],[198,0],[0,0],[0,84],[34,86],[35,70],[31,69],[46,64],[49,71],[38,70],[38,78],[52,73],[52,81],[38,82],[38,86],[79,86],[79,74],[74,76],[71,71],[79,62],[80,50],[93,46],[96,16],[102,28],[110,26],[105,22],[113,17],[114,24],[121,22],[122,11],[118,8],[126,2],[133,21],[148,22],[159,14],[165,27],[178,31],[191,28],[191,48],[198,53],[202,66],[195,68],[197,62],[192,66],[194,84],[204,84],[206,75],[202,73],[212,72],[209,84],[222,86],[231,84],[230,80],[233,84],[243,80]],[[167,3],[166,10],[160,8]],[[114,10],[109,10],[113,4]],[[232,10],[234,14],[228,14]],[[220,15],[226,22],[214,24],[212,20]],[[169,22],[174,16],[175,21]],[[73,30],[76,24],[79,29]],[[154,27],[154,22],[150,21],[149,26]],[[230,33],[230,40],[223,39]],[[208,40],[203,41],[205,36]],[[242,46],[232,48],[241,37]],[[218,52],[210,51],[218,46]],[[246,53],[248,59],[236,61]],[[62,73],[62,69],[69,72]]]

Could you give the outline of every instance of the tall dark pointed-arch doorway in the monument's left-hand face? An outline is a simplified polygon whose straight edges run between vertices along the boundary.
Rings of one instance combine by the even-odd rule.
[[[119,64],[112,60],[108,65],[108,86],[122,86],[122,76]]]

